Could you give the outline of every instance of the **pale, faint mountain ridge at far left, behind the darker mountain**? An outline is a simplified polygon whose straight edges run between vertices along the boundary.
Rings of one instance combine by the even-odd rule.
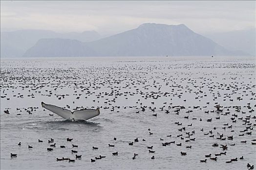
[[[75,39],[78,41],[86,42],[100,39],[102,36],[95,31],[66,34],[44,30],[19,30],[14,32],[1,32],[0,56],[21,57],[28,49],[33,47],[43,38]]]

